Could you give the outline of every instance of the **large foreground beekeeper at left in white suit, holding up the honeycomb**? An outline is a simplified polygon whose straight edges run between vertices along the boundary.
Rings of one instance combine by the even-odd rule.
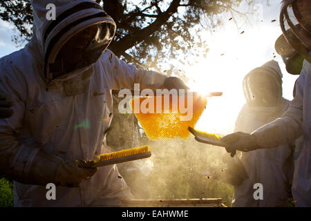
[[[56,20],[46,19],[49,3]],[[0,60],[0,91],[14,103],[14,115],[0,120],[0,172],[15,180],[15,206],[116,206],[133,198],[115,165],[83,168],[107,153],[111,89],[185,85],[106,50],[115,22],[95,1],[33,0],[32,8],[30,43]],[[57,185],[56,200],[46,198],[48,183]]]

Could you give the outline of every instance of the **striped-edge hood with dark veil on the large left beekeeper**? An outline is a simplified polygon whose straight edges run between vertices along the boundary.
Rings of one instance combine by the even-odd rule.
[[[48,20],[47,14],[53,3],[56,8],[56,20]],[[49,5],[50,6],[50,5]],[[44,57],[44,77],[53,80],[68,77],[77,70],[94,64],[111,43],[116,25],[103,8],[91,0],[32,0],[34,26],[33,32],[39,44],[41,56]],[[47,9],[48,8],[48,9]],[[93,28],[93,39],[83,48],[83,59],[64,71],[57,56],[62,47],[77,33]],[[73,52],[74,53],[74,52]]]

